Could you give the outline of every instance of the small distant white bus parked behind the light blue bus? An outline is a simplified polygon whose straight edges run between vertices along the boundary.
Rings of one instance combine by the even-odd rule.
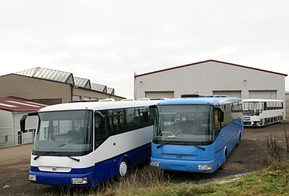
[[[244,126],[266,126],[283,120],[283,101],[277,99],[243,99]]]

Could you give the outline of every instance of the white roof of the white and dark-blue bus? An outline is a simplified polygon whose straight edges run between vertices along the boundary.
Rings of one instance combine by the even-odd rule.
[[[160,101],[160,100],[158,100]],[[117,108],[133,108],[141,106],[151,106],[158,103],[156,100],[150,101],[80,101],[73,103],[61,103],[47,106],[39,112],[61,111],[61,110],[105,110]]]

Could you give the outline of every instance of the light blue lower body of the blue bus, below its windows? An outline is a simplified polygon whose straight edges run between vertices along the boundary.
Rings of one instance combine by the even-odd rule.
[[[224,151],[227,150],[228,156],[242,134],[242,118],[239,118],[222,128],[213,144],[200,146],[204,147],[205,150],[193,145],[168,144],[157,148],[158,144],[152,143],[151,162],[160,162],[160,169],[167,171],[213,173],[224,163]],[[197,169],[198,164],[211,164],[212,168],[210,170],[199,170]]]

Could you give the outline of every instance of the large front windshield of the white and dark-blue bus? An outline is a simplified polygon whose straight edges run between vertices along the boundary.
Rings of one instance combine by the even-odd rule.
[[[92,152],[92,110],[39,112],[33,155],[83,156]]]

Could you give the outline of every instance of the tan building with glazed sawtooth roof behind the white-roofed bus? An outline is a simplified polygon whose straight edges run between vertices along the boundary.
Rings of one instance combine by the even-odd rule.
[[[125,99],[114,95],[114,88],[94,84],[72,73],[37,67],[0,77],[0,97],[23,97],[53,105],[82,99]]]

